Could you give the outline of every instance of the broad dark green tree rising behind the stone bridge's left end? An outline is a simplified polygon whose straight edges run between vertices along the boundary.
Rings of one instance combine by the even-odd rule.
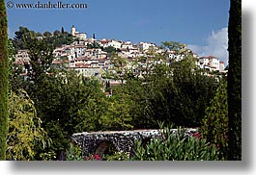
[[[107,103],[98,80],[68,72],[64,76],[44,76],[38,85],[31,86],[36,89],[31,94],[38,116],[52,138],[47,152],[56,153],[56,159],[63,159],[73,133],[103,129],[99,120]]]

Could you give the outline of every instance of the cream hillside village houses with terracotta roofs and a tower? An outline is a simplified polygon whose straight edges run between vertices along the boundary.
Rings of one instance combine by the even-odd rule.
[[[76,41],[71,43],[71,45],[62,45],[61,47],[55,48],[53,51],[54,61],[52,64],[56,66],[65,66],[85,77],[94,76],[101,79],[106,70],[113,68],[109,54],[103,51],[104,49],[102,48],[113,47],[117,49],[119,51],[117,52],[118,56],[127,59],[128,68],[132,68],[132,61],[134,59],[147,56],[147,53],[152,50],[155,50],[156,53],[164,52],[156,45],[156,43],[139,42],[134,44],[130,41],[116,39],[87,38],[86,33],[77,32],[74,26],[71,27],[71,35],[73,38],[77,38],[75,39]],[[100,48],[88,47],[88,44],[95,43],[100,45]],[[169,58],[175,58],[177,61],[181,61],[184,59],[185,54],[177,55],[174,51],[168,51],[168,56]],[[197,59],[197,64],[201,68],[209,71],[225,72],[224,63],[220,62],[216,57],[199,57],[196,54],[193,54],[193,57]],[[14,63],[24,64],[29,63],[29,61],[29,54],[26,50],[19,50],[15,55]],[[26,74],[26,72],[24,72],[24,74]],[[114,83],[115,82],[113,82],[113,84]]]

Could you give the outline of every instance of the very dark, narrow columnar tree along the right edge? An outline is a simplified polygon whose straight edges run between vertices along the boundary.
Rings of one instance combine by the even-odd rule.
[[[228,26],[229,160],[242,160],[242,1],[230,0]]]

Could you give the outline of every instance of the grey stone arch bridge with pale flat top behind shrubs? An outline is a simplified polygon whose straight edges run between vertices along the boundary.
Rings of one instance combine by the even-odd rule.
[[[171,131],[175,133],[177,129]],[[197,132],[197,129],[189,128],[185,130],[185,135],[194,132]],[[73,134],[71,141],[82,148],[83,156],[102,155],[110,145],[118,152],[128,152],[131,155],[134,140],[141,139],[146,144],[156,137],[161,137],[160,130],[104,131]]]

